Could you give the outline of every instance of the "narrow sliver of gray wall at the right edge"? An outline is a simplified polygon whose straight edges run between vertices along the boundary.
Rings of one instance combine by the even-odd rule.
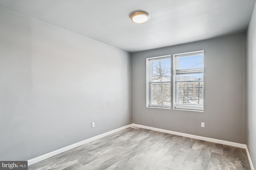
[[[247,30],[246,98],[247,147],[256,168],[256,4]]]

